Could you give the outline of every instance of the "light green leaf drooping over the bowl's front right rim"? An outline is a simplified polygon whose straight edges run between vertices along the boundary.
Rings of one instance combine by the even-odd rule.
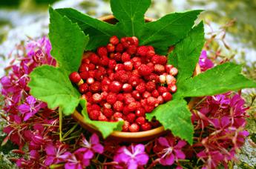
[[[154,116],[165,130],[171,130],[174,136],[185,139],[190,145],[193,143],[194,127],[191,122],[191,112],[184,99],[174,99],[158,106],[152,113],[146,113],[149,121]]]

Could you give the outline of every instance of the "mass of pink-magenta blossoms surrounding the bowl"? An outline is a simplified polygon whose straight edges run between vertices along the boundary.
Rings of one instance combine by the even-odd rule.
[[[4,96],[4,119],[7,133],[4,142],[10,140],[19,145],[20,159],[14,159],[19,168],[48,168],[60,164],[64,168],[85,168],[101,165],[105,168],[152,168],[155,165],[183,168],[188,162],[192,167],[217,168],[235,159],[235,153],[244,144],[249,133],[246,125],[245,101],[237,93],[199,98],[191,110],[194,124],[194,143],[189,145],[168,133],[144,144],[117,144],[99,140],[86,133],[63,141],[59,136],[58,110],[50,110],[45,102],[29,95],[29,73],[42,64],[55,66],[50,56],[47,38],[30,42],[18,56],[18,64],[10,67],[7,76],[1,78],[1,94]],[[206,51],[200,56],[200,67],[205,71],[214,66],[207,59]],[[66,118],[66,117],[65,117]],[[71,121],[74,122],[74,121]],[[73,127],[67,125],[66,127]],[[90,138],[90,139],[86,139]],[[104,145],[104,146],[103,146]],[[193,163],[194,162],[194,163]]]

